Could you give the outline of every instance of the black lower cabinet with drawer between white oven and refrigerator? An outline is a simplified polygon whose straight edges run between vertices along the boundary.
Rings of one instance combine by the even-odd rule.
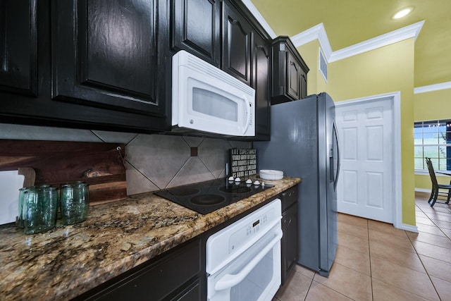
[[[297,263],[297,185],[282,192],[282,285],[287,281],[290,272]]]

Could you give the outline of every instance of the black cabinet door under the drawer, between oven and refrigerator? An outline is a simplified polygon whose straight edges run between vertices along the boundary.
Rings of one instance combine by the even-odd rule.
[[[297,262],[297,203],[290,206],[282,214],[282,284]]]

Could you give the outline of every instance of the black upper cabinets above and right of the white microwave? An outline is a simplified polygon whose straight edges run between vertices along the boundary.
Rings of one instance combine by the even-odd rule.
[[[171,55],[183,49],[253,87],[256,135],[234,139],[269,140],[271,39],[261,25],[241,1],[170,2]]]

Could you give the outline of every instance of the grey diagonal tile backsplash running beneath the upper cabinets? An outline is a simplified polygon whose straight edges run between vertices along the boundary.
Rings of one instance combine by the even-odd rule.
[[[225,177],[228,149],[252,147],[223,139],[13,124],[0,125],[0,139],[123,143],[127,195]]]

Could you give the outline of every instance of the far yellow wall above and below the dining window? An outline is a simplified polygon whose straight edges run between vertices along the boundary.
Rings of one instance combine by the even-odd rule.
[[[414,94],[414,120],[451,118],[451,89]],[[449,176],[437,176],[438,183],[449,184]],[[431,190],[429,175],[415,175],[415,188]]]

